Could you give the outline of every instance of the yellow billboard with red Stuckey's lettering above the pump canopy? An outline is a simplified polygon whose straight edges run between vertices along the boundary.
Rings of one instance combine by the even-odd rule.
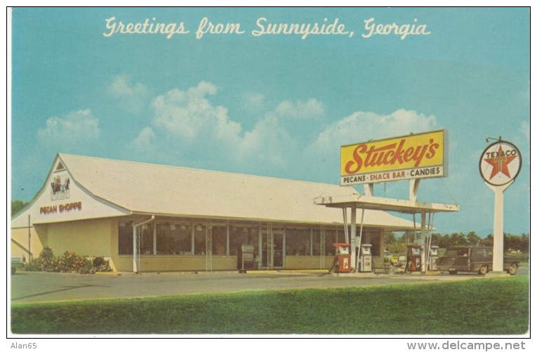
[[[341,185],[447,176],[447,131],[341,147]]]

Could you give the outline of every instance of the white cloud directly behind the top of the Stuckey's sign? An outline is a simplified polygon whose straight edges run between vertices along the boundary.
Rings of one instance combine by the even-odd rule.
[[[434,115],[427,116],[411,110],[399,109],[390,115],[357,111],[324,129],[312,147],[326,150],[333,145],[418,133],[433,129],[436,124]]]

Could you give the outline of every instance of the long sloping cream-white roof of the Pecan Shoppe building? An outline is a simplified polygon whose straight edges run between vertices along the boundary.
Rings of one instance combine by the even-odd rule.
[[[319,196],[357,194],[351,187],[284,178],[58,154],[88,192],[133,213],[289,223],[343,223]],[[366,210],[364,225],[411,229],[413,223]]]

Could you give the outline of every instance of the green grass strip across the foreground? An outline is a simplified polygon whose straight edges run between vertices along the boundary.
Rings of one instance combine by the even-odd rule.
[[[524,334],[529,278],[12,304],[15,334]]]

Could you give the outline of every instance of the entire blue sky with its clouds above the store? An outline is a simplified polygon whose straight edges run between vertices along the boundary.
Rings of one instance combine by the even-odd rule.
[[[105,36],[112,17],[190,32]],[[203,18],[244,33],[197,39]],[[256,37],[259,18],[345,34]],[[364,37],[371,18],[428,34]],[[13,199],[57,152],[338,183],[340,145],[447,129],[449,176],[418,193],[460,204],[437,232],[492,233],[478,163],[502,136],[523,160],[504,230],[529,233],[528,8],[15,8],[12,25]],[[407,198],[408,182],[375,192]]]

